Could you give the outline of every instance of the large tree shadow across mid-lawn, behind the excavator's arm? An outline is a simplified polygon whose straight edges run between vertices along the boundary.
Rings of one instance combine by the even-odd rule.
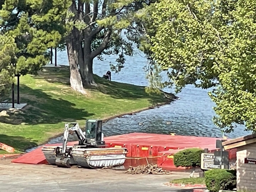
[[[28,106],[18,111],[8,111],[9,117],[0,116],[0,122],[7,124],[56,124],[63,121],[85,120],[94,114],[84,109],[75,108],[76,104],[63,100],[61,96],[56,99],[39,89],[20,86],[21,101]]]

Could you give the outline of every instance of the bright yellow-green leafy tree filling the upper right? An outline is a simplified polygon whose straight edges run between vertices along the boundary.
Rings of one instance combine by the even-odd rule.
[[[252,0],[162,0],[152,14],[154,60],[170,81],[214,88],[217,126],[256,125],[256,2]]]

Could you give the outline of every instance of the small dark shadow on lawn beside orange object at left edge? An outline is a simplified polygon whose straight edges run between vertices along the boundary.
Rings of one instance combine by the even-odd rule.
[[[8,136],[5,134],[0,134],[0,142],[4,143],[8,146],[15,148],[15,150],[24,151],[24,149],[28,149],[34,146],[37,146],[34,140],[30,140],[21,136]]]

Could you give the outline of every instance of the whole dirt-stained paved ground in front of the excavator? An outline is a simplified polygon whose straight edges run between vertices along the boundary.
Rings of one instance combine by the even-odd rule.
[[[58,168],[0,160],[1,192],[192,192],[164,183],[189,173],[130,175],[116,170]]]

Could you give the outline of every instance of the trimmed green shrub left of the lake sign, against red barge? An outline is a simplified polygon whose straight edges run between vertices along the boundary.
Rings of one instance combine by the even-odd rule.
[[[196,167],[201,165],[201,154],[204,152],[202,149],[192,148],[185,149],[174,154],[174,165],[176,167]]]

